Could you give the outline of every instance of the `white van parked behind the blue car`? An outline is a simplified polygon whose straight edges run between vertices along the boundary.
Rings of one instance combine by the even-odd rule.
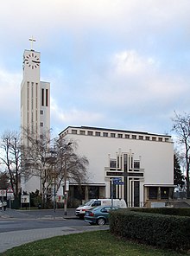
[[[113,199],[112,203],[113,207],[127,208],[126,202],[123,199]],[[86,202],[84,205],[81,205],[78,208],[76,208],[75,214],[76,216],[79,216],[80,219],[83,219],[85,216],[85,211],[90,210],[91,208],[97,206],[111,206],[111,199],[91,199],[89,202]]]

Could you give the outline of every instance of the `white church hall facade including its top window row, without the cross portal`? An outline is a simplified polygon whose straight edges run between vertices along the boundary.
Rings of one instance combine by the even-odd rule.
[[[73,134],[73,131],[77,131],[77,134]],[[92,131],[93,135],[87,135],[88,131]],[[100,132],[100,136],[95,135],[96,131]],[[85,135],[80,134],[84,132]],[[104,137],[104,133],[107,133],[108,137]],[[116,138],[111,138],[111,133],[115,133]],[[123,138],[117,138],[118,134],[122,134]],[[130,138],[125,138],[126,134]],[[142,139],[139,139],[139,136]],[[144,197],[144,185],[172,187],[174,184],[174,148],[170,136],[98,128],[93,130],[92,127],[68,127],[60,133],[60,137],[73,139],[79,144],[79,155],[89,160],[88,182],[104,184],[106,197],[110,197],[110,181],[105,177],[105,167],[109,168],[110,157],[116,158],[118,153],[132,154],[134,160],[140,160],[143,172],[143,177],[140,178],[141,202]]]

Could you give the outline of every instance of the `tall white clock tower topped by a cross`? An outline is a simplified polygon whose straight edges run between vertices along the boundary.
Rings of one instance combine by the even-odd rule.
[[[23,54],[23,78],[21,84],[21,127],[41,138],[50,130],[50,83],[41,81],[41,53],[33,49],[33,38],[29,39],[31,49]],[[28,145],[22,136],[22,144]],[[33,180],[33,181],[32,181]],[[22,181],[22,190],[28,192],[40,189],[34,179]]]

